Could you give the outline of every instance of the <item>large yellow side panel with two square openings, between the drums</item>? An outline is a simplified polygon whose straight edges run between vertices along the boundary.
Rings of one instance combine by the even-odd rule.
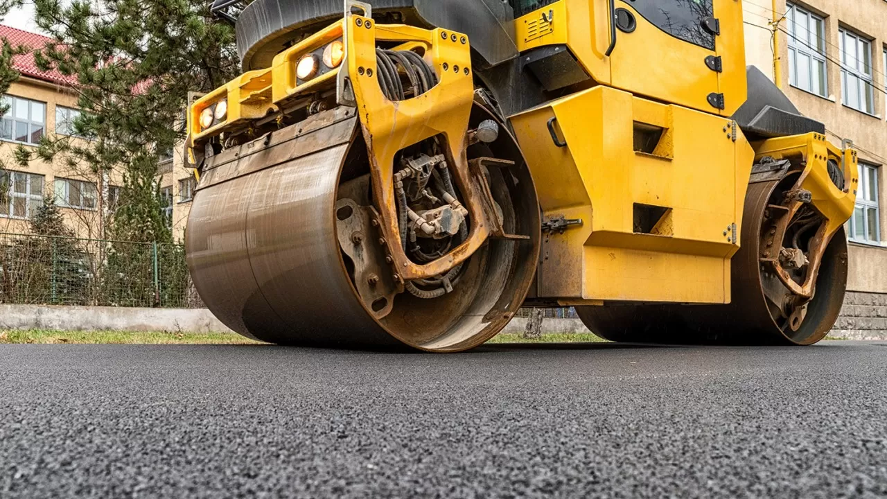
[[[567,147],[554,144],[552,118]],[[595,87],[512,124],[546,219],[582,219],[546,234],[539,297],[729,302],[754,160],[730,120]],[[636,129],[662,131],[649,154],[635,151]],[[664,214],[644,228],[638,214],[649,207]]]

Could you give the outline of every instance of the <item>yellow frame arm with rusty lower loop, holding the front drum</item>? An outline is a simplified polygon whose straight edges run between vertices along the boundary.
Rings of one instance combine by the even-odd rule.
[[[370,17],[346,12],[346,60],[350,88],[369,151],[373,201],[398,281],[445,273],[475,253],[491,234],[482,209],[482,194],[466,154],[468,120],[474,101],[470,46],[466,35],[447,29],[426,30],[405,25],[377,26]],[[376,46],[380,42],[420,43],[424,59],[439,77],[430,91],[412,99],[386,99],[377,80]],[[397,227],[394,193],[395,155],[425,139],[443,138],[447,162],[463,195],[470,218],[468,238],[447,255],[426,265],[406,257]]]

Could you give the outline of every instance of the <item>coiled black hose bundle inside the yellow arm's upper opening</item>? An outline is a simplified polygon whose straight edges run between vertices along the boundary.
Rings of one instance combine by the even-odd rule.
[[[414,51],[387,51],[376,49],[377,74],[382,93],[389,100],[418,97],[437,84],[437,74],[425,59]],[[404,88],[403,70],[409,87]]]

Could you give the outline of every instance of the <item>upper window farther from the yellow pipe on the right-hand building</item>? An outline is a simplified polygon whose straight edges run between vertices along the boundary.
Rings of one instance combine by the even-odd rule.
[[[872,115],[875,113],[872,44],[851,31],[843,28],[840,31],[844,106]]]

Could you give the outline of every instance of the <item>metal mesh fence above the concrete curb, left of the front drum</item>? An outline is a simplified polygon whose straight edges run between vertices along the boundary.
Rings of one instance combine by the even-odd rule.
[[[4,233],[0,303],[204,306],[181,245]]]

